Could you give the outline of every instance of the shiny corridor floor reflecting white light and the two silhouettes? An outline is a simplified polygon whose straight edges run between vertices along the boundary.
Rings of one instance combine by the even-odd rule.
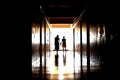
[[[74,56],[75,54],[75,56]],[[44,77],[44,69],[46,69],[46,77],[48,80],[75,80],[80,78],[80,53],[73,51],[51,51],[42,56],[42,74]],[[46,61],[46,64],[45,64]],[[46,67],[45,67],[46,65]],[[32,56],[32,74],[33,77],[39,76],[40,57],[39,55]],[[91,56],[90,71],[94,72],[100,69],[99,59]],[[87,58],[83,55],[83,73],[87,72]]]

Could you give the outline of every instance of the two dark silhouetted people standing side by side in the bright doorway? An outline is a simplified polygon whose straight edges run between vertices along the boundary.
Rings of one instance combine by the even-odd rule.
[[[62,44],[62,47],[63,47],[63,51],[65,51],[66,50],[66,39],[65,39],[65,36],[63,36],[63,39],[62,39],[62,43],[60,43],[59,42],[59,35],[57,35],[56,37],[55,37],[55,51],[58,51],[59,50],[59,45],[61,45]]]

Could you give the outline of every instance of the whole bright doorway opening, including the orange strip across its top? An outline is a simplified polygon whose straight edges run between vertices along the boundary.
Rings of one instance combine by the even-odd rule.
[[[60,39],[60,50],[62,50],[62,38],[65,36],[66,38],[66,50],[73,50],[73,28],[72,24],[51,24],[52,28],[50,28],[50,45],[51,50],[54,50],[54,39],[56,35],[59,35]]]

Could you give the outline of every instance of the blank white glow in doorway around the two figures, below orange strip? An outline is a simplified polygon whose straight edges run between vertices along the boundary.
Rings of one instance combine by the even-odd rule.
[[[66,49],[73,50],[73,28],[51,28],[51,50],[54,50],[54,38],[56,35],[59,35],[60,43],[62,41],[63,36],[66,38]],[[60,50],[62,46],[60,45]]]

